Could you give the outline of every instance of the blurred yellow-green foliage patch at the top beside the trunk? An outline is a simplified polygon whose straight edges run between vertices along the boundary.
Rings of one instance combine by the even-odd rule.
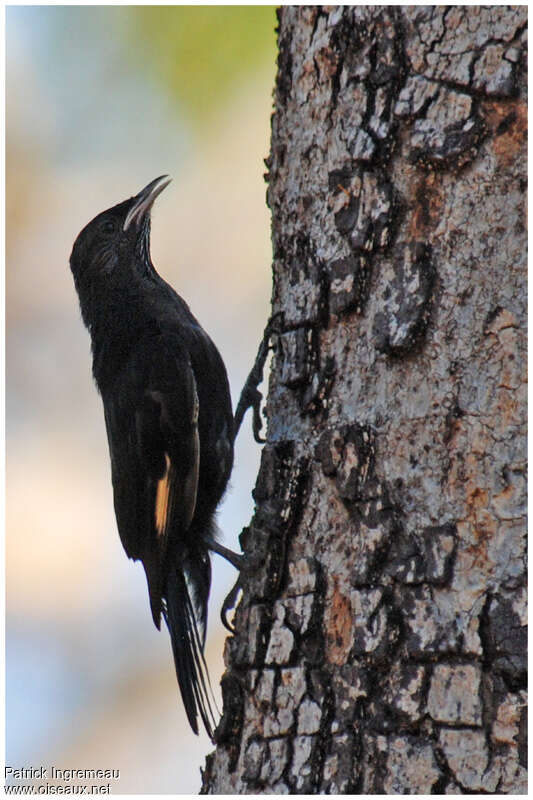
[[[275,6],[130,8],[144,67],[192,121],[205,123],[250,73],[271,66],[274,74]]]

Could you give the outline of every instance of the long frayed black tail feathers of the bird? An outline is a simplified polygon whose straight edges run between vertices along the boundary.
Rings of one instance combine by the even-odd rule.
[[[204,658],[211,566],[208,553],[202,556],[185,559],[170,571],[163,614],[172,641],[176,675],[190,726],[197,734],[199,714],[212,739],[216,720]]]

